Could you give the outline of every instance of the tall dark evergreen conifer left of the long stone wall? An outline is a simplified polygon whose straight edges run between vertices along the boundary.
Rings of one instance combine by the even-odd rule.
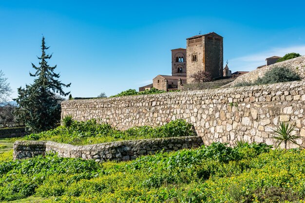
[[[18,88],[18,98],[15,101],[19,108],[17,114],[21,121],[25,124],[30,132],[39,132],[54,128],[60,120],[60,97],[56,93],[67,96],[70,92],[65,93],[62,88],[70,87],[58,80],[59,74],[54,73],[56,65],[51,67],[48,65],[47,59],[52,57],[47,55],[45,51],[49,47],[45,46],[44,37],[42,37],[41,51],[42,54],[38,59],[39,67],[33,63],[32,66],[36,70],[34,83],[26,85],[24,88]]]

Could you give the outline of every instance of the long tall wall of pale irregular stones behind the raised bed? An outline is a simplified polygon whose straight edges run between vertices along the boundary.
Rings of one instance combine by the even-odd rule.
[[[305,136],[305,80],[271,85],[167,92],[61,103],[62,117],[98,119],[117,129],[159,126],[175,119],[190,122],[205,145],[237,139],[274,144],[272,129],[281,121]],[[304,138],[298,139],[304,146]],[[294,148],[295,145],[288,145]]]

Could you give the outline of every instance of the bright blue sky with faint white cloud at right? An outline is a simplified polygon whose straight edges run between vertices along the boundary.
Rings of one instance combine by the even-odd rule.
[[[0,70],[17,97],[33,82],[42,34],[74,97],[108,96],[171,74],[186,38],[224,37],[224,64],[251,71],[269,56],[305,55],[305,1],[0,0]]]

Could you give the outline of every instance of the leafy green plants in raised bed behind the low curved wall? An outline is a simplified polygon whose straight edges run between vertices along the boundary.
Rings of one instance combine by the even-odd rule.
[[[40,133],[33,133],[25,136],[23,139],[50,140],[73,145],[88,145],[119,140],[195,135],[192,125],[181,119],[155,128],[142,126],[120,131],[113,129],[107,123],[98,124],[95,119],[79,122],[71,120],[72,117],[68,119],[68,117],[63,121],[64,126]],[[67,126],[67,123],[69,123],[69,126]]]

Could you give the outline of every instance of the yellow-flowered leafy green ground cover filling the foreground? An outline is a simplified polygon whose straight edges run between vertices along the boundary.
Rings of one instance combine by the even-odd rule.
[[[49,154],[0,164],[0,200],[44,203],[304,202],[305,150],[265,144],[184,149],[130,162]]]

